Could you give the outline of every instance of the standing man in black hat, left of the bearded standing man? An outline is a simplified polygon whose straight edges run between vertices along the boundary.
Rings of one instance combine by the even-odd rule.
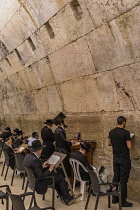
[[[51,129],[53,126],[53,121],[49,119],[46,120],[44,124],[45,125],[41,130],[41,138],[43,140],[43,144],[46,145],[46,147],[43,149],[42,155],[44,155],[45,158],[48,159],[55,151],[55,146],[53,145],[54,133],[52,132]]]

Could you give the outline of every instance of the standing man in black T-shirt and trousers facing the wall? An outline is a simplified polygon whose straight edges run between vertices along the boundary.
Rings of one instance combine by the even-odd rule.
[[[108,146],[113,148],[113,182],[121,183],[122,207],[131,207],[132,203],[127,199],[127,182],[131,170],[131,160],[129,149],[132,147],[130,133],[125,130],[126,118],[120,116],[117,118],[118,126],[109,132]],[[118,197],[113,197],[112,203],[118,203]]]

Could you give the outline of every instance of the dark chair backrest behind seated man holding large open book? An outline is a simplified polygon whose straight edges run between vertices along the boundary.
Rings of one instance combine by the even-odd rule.
[[[33,170],[31,168],[27,168],[25,167],[25,171],[27,173],[27,176],[28,176],[28,186],[31,190],[35,190],[35,187],[36,187],[36,177],[35,177],[35,174],[33,172]]]

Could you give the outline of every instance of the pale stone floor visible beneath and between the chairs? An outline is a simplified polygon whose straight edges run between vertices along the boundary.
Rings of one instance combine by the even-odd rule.
[[[3,161],[3,156],[0,159],[0,161]],[[2,164],[0,164],[0,173],[2,170]],[[4,181],[4,177],[0,176],[0,185],[3,184],[8,184],[10,185],[10,181],[11,181],[11,177],[12,177],[12,170],[9,168],[9,172],[8,172],[8,176],[7,176],[7,180]],[[23,190],[21,190],[21,184],[22,184],[22,180],[20,179],[19,174],[15,175],[15,179],[14,179],[14,183],[13,186],[11,187],[11,190],[13,193],[15,194],[20,194],[23,193]],[[76,193],[78,193],[79,188],[76,189]],[[42,196],[40,195],[36,195],[37,198],[37,203],[40,207],[46,207],[50,204],[50,198],[51,198],[51,189],[48,190],[47,194],[46,194],[46,200],[43,201],[42,200]],[[85,202],[86,202],[86,198],[87,198],[87,192],[85,192],[85,199],[84,201],[80,201],[79,199],[76,200],[76,202],[74,204],[72,204],[71,206],[66,206],[65,204],[63,204],[58,198],[56,198],[55,200],[55,208],[56,210],[62,210],[62,209],[66,209],[67,210],[84,210],[85,207]],[[28,198],[25,200],[25,204],[26,207],[29,207],[29,202],[30,202],[30,196],[28,196]],[[134,206],[131,208],[123,208],[125,210],[131,209],[131,210],[140,210],[140,204],[133,202]],[[94,209],[94,205],[95,205],[95,197],[91,196],[90,202],[89,202],[89,206],[88,206],[88,210],[93,210]],[[99,207],[98,210],[107,210],[107,198],[106,197],[101,197],[100,201],[99,201]],[[111,206],[112,210],[117,210],[118,209],[118,205],[113,205]],[[5,206],[1,204],[0,202],[0,210],[5,210]],[[11,210],[11,203],[10,203],[10,210]],[[18,209],[17,209],[18,210]]]

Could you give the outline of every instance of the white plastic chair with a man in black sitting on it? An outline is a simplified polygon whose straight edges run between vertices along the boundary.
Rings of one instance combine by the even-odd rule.
[[[72,166],[73,173],[74,173],[73,192],[75,190],[76,180],[78,180],[80,182],[80,193],[82,194],[82,196],[80,197],[80,200],[84,200],[85,184],[86,182],[89,182],[90,180],[89,181],[82,180],[80,171],[79,171],[79,166],[81,166],[85,172],[88,172],[88,171],[86,170],[84,165],[76,159],[69,158],[69,162]]]

